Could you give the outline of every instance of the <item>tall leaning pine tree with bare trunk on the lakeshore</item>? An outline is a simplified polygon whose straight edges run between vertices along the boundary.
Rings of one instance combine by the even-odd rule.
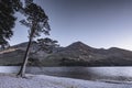
[[[29,44],[25,51],[23,65],[18,74],[20,77],[25,77],[25,67],[29,59],[30,46],[34,37],[40,36],[42,33],[48,35],[51,28],[48,25],[48,16],[45,14],[44,10],[35,4],[33,0],[25,0],[25,8],[23,9],[23,14],[26,19],[20,22],[30,28],[29,30]]]

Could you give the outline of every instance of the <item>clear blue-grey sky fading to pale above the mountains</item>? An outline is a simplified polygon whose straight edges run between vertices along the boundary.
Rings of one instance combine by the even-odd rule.
[[[132,0],[34,0],[50,18],[50,36],[61,46],[74,42],[96,48],[132,51]],[[19,13],[18,21],[23,19]],[[16,22],[10,44],[28,41],[28,28]]]

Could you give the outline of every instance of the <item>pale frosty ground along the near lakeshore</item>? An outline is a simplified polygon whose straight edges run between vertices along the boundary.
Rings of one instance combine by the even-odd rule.
[[[26,76],[18,78],[15,75],[0,74],[0,88],[132,88],[131,81],[105,82],[46,75]]]

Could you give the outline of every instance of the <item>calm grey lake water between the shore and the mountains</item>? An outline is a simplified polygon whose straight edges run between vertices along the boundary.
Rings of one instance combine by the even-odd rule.
[[[0,73],[18,73],[18,66],[0,66]],[[45,74],[79,79],[117,79],[132,78],[132,67],[28,67],[29,74]]]

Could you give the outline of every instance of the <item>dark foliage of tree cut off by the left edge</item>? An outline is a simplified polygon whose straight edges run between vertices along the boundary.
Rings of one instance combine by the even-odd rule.
[[[16,18],[14,12],[21,7],[20,0],[0,0],[0,47],[9,46],[7,40],[13,35],[12,29],[15,25]]]

